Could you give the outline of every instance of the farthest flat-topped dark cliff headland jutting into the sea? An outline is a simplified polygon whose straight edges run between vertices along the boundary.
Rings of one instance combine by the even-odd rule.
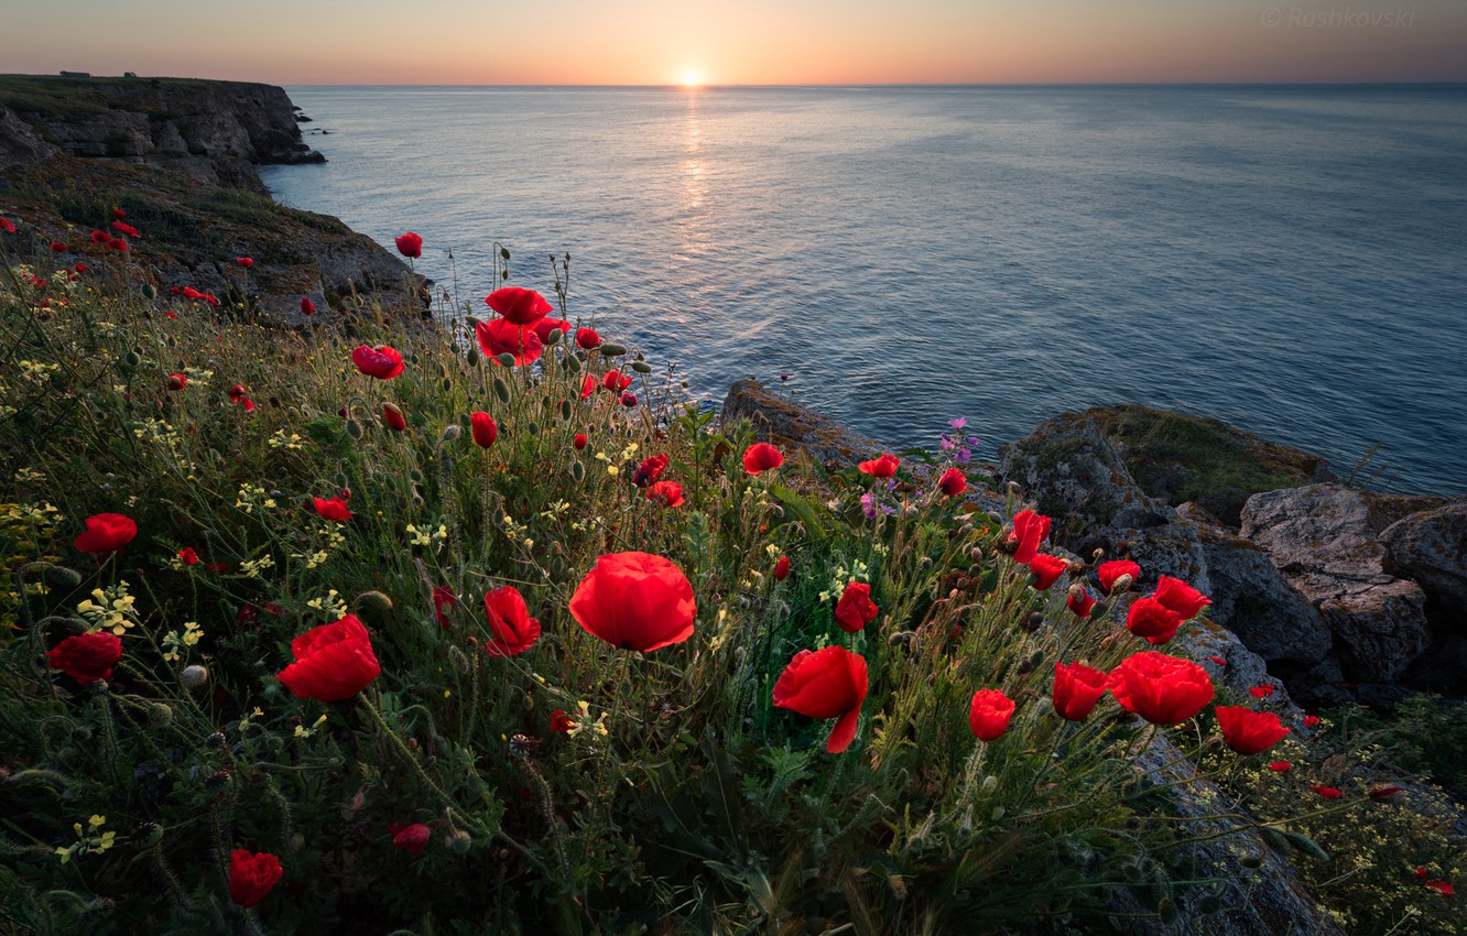
[[[116,158],[205,185],[267,194],[255,166],[326,161],[301,139],[295,107],[271,85],[176,78],[0,78],[0,160],[54,153]],[[25,135],[45,144],[26,145]],[[22,142],[16,142],[22,141]]]

